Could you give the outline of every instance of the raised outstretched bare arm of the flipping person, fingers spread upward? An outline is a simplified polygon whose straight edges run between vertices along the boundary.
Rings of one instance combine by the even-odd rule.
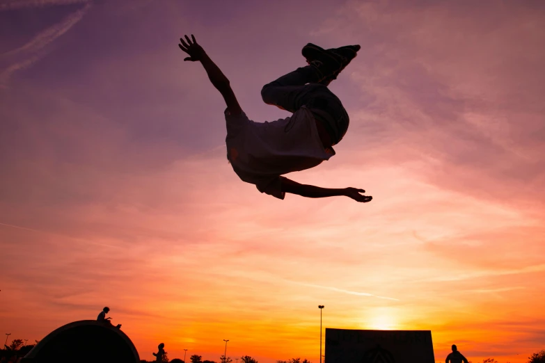
[[[240,113],[242,113],[242,109],[239,106],[237,97],[235,97],[235,93],[232,92],[229,80],[227,79],[225,74],[223,74],[223,72],[221,72],[216,63],[214,63],[212,59],[210,59],[203,47],[200,47],[200,45],[197,44],[197,41],[195,40],[193,34],[191,34],[192,41],[189,40],[189,37],[187,35],[184,36],[186,40],[184,41],[183,38],[180,38],[180,42],[182,44],[178,45],[178,47],[180,47],[182,51],[185,51],[187,54],[189,54],[189,57],[184,58],[184,61],[200,61],[200,63],[205,68],[206,73],[208,74],[210,82],[212,82],[212,85],[217,90],[219,90],[219,92],[223,96],[223,99],[225,100],[227,108],[229,109],[231,115],[239,115]]]

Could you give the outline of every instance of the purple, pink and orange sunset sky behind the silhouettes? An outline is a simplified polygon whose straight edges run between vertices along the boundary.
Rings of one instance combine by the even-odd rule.
[[[437,362],[545,348],[545,1],[1,0],[0,339],[109,306],[141,359],[319,361],[324,328],[432,330]],[[301,48],[361,45],[329,86],[337,154],[278,200],[226,159]],[[3,344],[3,340],[2,343]]]

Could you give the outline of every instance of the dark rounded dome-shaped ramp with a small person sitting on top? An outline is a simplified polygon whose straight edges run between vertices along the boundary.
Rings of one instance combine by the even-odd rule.
[[[95,320],[74,321],[40,340],[20,363],[139,363],[127,334]]]

